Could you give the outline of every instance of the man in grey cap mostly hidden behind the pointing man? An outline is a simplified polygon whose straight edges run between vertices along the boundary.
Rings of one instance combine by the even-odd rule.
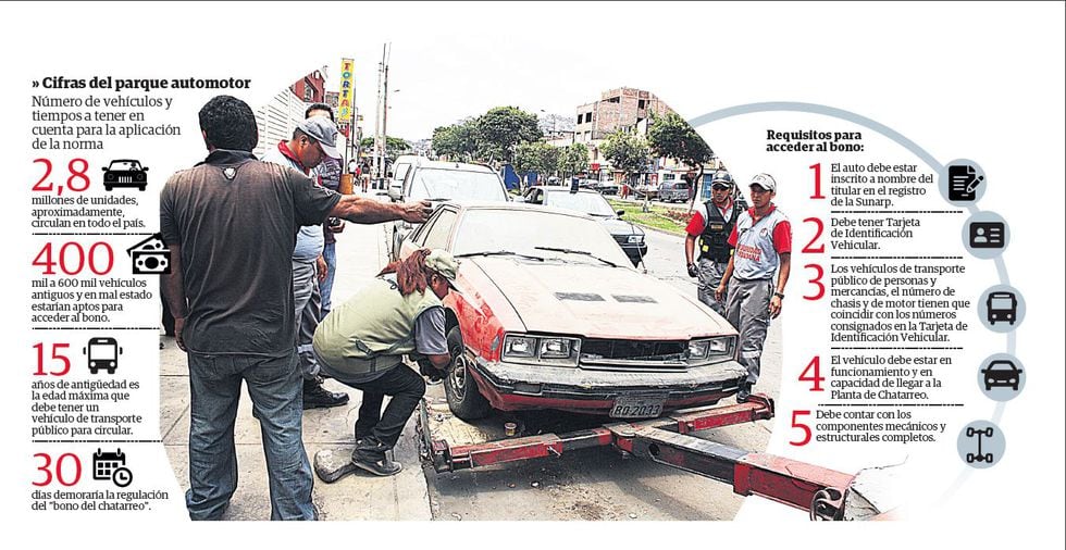
[[[311,176],[321,186],[317,174],[312,173],[326,157],[340,158],[336,148],[337,126],[326,116],[312,116],[300,121],[293,132],[293,139],[280,141],[277,147],[268,149],[263,155],[273,162]],[[305,325],[305,316],[318,321],[318,278],[324,275],[326,265],[322,258],[325,235],[322,225],[305,225],[296,235],[296,249],[293,250],[293,293],[296,298],[296,326]],[[313,329],[311,332],[313,334]],[[322,386],[319,365],[311,353],[310,334],[301,336],[297,346],[300,370],[303,373],[303,409],[339,407],[348,402],[348,395],[330,391]]]

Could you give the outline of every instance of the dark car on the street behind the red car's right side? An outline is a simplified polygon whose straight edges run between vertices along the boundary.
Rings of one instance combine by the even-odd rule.
[[[569,188],[531,187],[525,202],[572,210],[595,217],[606,228],[633,265],[639,265],[647,254],[644,229],[621,220],[622,211],[615,211],[603,195],[596,191],[570,192]]]

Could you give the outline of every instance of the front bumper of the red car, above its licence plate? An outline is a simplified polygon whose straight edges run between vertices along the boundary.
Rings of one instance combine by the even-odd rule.
[[[593,371],[487,362],[472,374],[494,409],[556,409],[607,414],[620,397],[665,396],[664,410],[714,404],[740,389],[747,371],[735,361],[679,372]]]

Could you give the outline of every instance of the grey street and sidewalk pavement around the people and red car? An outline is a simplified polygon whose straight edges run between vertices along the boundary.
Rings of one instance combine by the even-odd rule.
[[[338,237],[335,303],[351,296],[387,263],[386,226],[347,224]],[[694,295],[694,279],[684,266],[684,239],[656,230],[648,230],[647,239],[648,274]],[[173,339],[162,341],[161,436],[184,490],[188,487],[188,370]],[[779,323],[771,325],[766,348],[756,391],[777,397]],[[312,461],[318,451],[349,452],[354,446],[360,392],[335,380],[326,384],[347,391],[351,400],[345,407],[305,412],[303,440]],[[427,396],[443,399],[443,386],[430,386]],[[728,485],[603,448],[438,475],[432,467],[420,466],[414,423],[414,418],[408,423],[395,449],[395,460],[405,465],[399,475],[381,478],[356,473],[335,484],[315,479],[313,500],[322,520],[729,520],[743,502]],[[770,427],[769,422],[759,422],[701,437],[761,451]],[[236,442],[240,482],[225,518],[269,520],[265,460],[247,396],[238,411]]]

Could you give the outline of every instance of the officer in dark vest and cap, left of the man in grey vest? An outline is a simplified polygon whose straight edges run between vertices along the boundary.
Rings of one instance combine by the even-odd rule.
[[[729,246],[729,235],[744,205],[741,200],[733,200],[733,176],[719,170],[710,183],[710,200],[703,209],[693,214],[685,232],[685,262],[689,276],[698,277],[699,286],[696,296],[699,301],[715,310],[719,315],[726,315],[726,303],[715,298],[715,290],[726,274],[732,247]],[[696,240],[699,240],[699,258],[693,262]]]

